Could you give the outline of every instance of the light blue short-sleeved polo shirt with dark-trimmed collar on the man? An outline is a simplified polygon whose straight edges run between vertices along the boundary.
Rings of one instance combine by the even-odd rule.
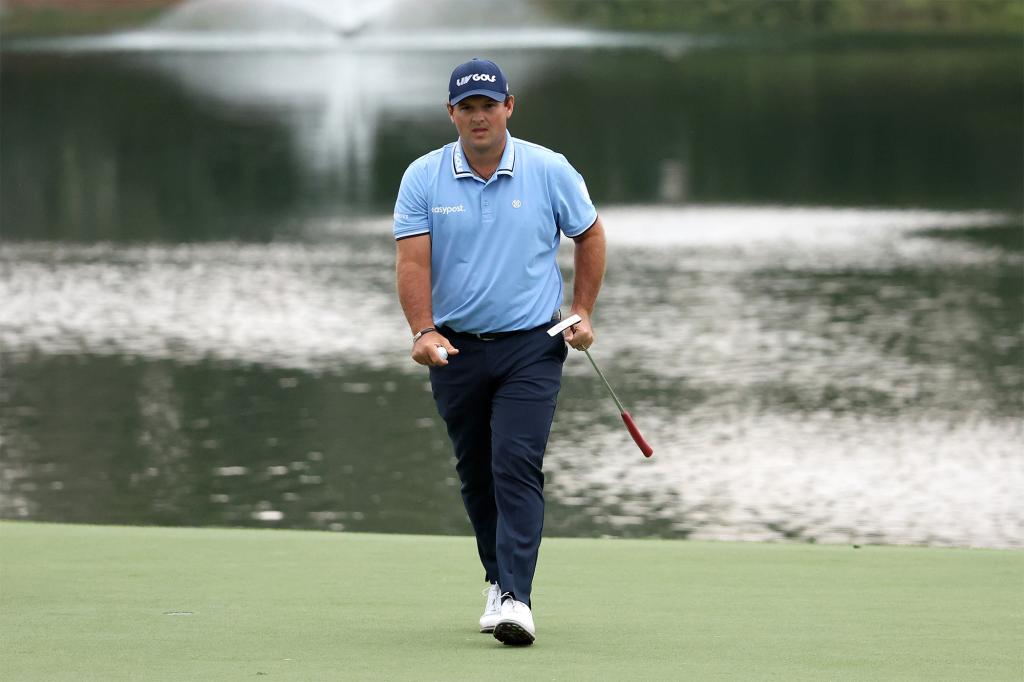
[[[549,322],[562,304],[561,236],[597,220],[587,184],[560,154],[506,133],[488,180],[459,141],[406,170],[394,238],[430,235],[434,324],[459,332],[507,332]]]

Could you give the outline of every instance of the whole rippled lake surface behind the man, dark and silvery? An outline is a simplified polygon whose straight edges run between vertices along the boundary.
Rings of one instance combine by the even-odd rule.
[[[1019,44],[375,27],[5,46],[0,517],[469,534],[389,214],[482,54],[655,450],[570,354],[549,535],[1024,547]]]

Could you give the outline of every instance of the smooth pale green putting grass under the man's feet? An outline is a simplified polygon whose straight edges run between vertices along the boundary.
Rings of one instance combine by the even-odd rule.
[[[468,538],[0,523],[9,680],[1019,680],[1024,552],[548,539],[538,642]]]

